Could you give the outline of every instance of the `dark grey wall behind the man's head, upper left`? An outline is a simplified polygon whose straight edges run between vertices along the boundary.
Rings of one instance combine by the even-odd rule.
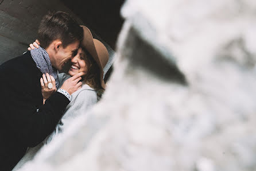
[[[37,28],[49,10],[61,10],[73,15],[59,0],[2,0],[0,3],[0,64],[22,55],[37,37]]]

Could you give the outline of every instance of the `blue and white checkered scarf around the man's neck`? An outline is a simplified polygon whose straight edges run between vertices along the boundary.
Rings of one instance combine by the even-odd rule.
[[[56,81],[56,88],[59,87],[59,77],[58,77],[58,71],[56,68],[52,67],[50,57],[46,50],[44,48],[34,48],[30,50],[32,59],[36,63],[37,68],[40,69],[42,73],[49,73],[49,75],[52,75]]]

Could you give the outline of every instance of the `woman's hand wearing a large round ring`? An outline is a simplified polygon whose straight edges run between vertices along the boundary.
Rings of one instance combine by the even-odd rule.
[[[47,100],[53,93],[56,92],[57,88],[56,88],[56,84],[55,84],[55,79],[53,78],[53,76],[49,75],[48,73],[46,73],[46,76],[43,74],[42,78],[40,79],[40,83],[41,83],[41,92],[42,92],[42,98],[43,101],[42,103],[45,103],[45,100]],[[52,83],[52,88],[48,88],[48,84]]]

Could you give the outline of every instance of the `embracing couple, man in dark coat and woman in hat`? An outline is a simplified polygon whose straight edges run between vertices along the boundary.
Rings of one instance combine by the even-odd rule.
[[[0,66],[0,170],[13,169],[28,147],[67,129],[105,88],[107,49],[69,14],[45,15],[36,42]],[[68,74],[59,73],[69,60]]]

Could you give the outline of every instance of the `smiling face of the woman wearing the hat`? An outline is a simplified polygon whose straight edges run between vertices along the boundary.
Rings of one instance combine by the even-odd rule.
[[[86,53],[82,50],[82,48],[79,48],[77,50],[76,56],[74,56],[71,59],[71,67],[68,71],[68,74],[71,76],[76,75],[76,73],[79,72],[86,72],[87,71],[87,66],[86,66]]]

